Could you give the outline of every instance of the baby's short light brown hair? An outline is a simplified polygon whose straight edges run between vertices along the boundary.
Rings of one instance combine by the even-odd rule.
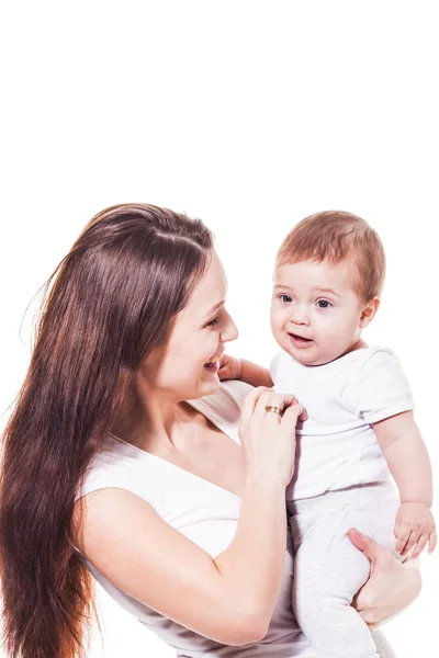
[[[277,254],[277,265],[302,260],[340,263],[356,269],[353,290],[362,302],[381,295],[385,279],[384,247],[378,232],[351,213],[325,211],[302,219],[288,234]]]

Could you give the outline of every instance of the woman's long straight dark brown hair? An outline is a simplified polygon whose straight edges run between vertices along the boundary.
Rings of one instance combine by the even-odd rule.
[[[11,658],[87,655],[95,609],[75,551],[75,495],[132,373],[187,304],[212,248],[199,219],[113,206],[91,219],[46,284],[2,446],[2,637]]]

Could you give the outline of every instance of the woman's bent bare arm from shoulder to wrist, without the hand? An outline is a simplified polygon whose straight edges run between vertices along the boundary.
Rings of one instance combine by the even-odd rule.
[[[247,489],[236,535],[215,559],[127,490],[100,489],[83,499],[77,545],[113,585],[223,644],[266,635],[285,558],[282,487]]]

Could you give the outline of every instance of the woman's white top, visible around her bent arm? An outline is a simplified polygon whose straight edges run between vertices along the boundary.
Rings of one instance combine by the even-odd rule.
[[[239,443],[237,430],[240,406],[251,388],[243,382],[223,382],[215,394],[188,402]],[[93,461],[76,499],[108,487],[127,489],[149,502],[164,521],[212,557],[227,548],[236,532],[241,502],[238,496],[113,436],[109,438],[105,451]],[[290,533],[288,536],[290,537]],[[268,634],[259,643],[244,646],[219,644],[168,620],[113,586],[82,553],[78,551],[78,554],[105,591],[160,639],[173,647],[180,658],[316,656],[299,629],[291,609],[293,559],[290,538],[285,552],[284,578]]]

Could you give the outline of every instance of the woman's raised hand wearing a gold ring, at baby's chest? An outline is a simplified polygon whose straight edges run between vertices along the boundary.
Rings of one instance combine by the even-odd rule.
[[[281,413],[267,411],[267,406],[278,407]],[[286,487],[294,472],[295,426],[306,418],[293,395],[259,386],[245,398],[239,439],[248,481]]]

